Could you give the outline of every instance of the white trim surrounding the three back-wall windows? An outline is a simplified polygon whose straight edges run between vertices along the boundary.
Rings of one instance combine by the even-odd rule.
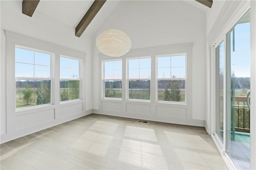
[[[186,99],[187,103],[164,103],[164,102],[156,102],[156,56],[166,55],[166,54],[180,54],[180,53],[186,53],[187,54],[187,61],[186,61],[186,69],[187,69],[187,79],[186,79]],[[146,56],[151,57],[151,81],[150,81],[150,101],[146,100],[127,100],[127,77],[128,77],[128,63],[127,59],[133,59]],[[197,117],[195,115],[195,110],[192,108],[193,103],[193,97],[192,97],[192,57],[193,57],[193,43],[182,43],[182,44],[175,44],[175,45],[165,45],[165,46],[159,46],[159,47],[148,47],[148,48],[141,48],[141,49],[131,49],[127,54],[118,57],[118,60],[122,59],[122,100],[121,99],[104,99],[103,94],[103,86],[102,86],[102,75],[104,73],[102,61],[113,61],[116,60],[116,58],[106,56],[102,53],[98,54],[98,108],[99,111],[102,112],[108,112],[109,109],[106,109],[106,103],[110,103],[111,105],[115,105],[116,103],[119,104],[119,107],[121,110],[114,111],[114,113],[118,114],[130,114],[130,112],[127,111],[128,104],[140,104],[143,105],[151,105],[151,114],[156,113],[157,107],[170,107],[170,108],[184,108],[187,112],[188,118]],[[111,112],[112,113],[112,112]]]

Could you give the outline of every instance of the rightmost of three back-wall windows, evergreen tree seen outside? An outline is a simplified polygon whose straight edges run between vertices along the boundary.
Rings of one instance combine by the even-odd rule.
[[[185,102],[186,55],[157,57],[158,101]]]

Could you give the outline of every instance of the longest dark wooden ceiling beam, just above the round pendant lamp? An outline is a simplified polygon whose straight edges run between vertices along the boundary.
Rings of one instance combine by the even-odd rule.
[[[96,14],[99,12],[100,8],[104,5],[105,2],[106,0],[94,0],[89,10],[84,14],[84,17],[76,26],[77,37],[80,37],[83,34],[84,30],[88,27],[90,22],[96,16]]]

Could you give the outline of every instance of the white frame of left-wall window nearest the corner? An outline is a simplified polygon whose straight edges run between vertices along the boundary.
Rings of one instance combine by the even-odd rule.
[[[60,67],[59,65],[59,83],[60,81],[63,81],[63,80],[67,80],[67,81],[72,81],[72,80],[78,80],[79,81],[79,98],[78,99],[71,99],[71,100],[66,100],[66,101],[61,101],[61,99],[59,100],[60,101],[60,104],[64,104],[64,103],[71,103],[71,102],[76,102],[76,101],[81,101],[82,100],[82,59],[79,59],[79,58],[76,58],[76,57],[70,57],[68,55],[62,55],[60,54],[59,55],[59,59],[60,57],[64,57],[64,58],[68,58],[68,59],[74,59],[74,60],[78,60],[79,62],[79,69],[78,69],[78,72],[79,72],[79,78],[78,79],[67,79],[67,78],[60,78],[60,68],[63,68],[63,67]],[[60,60],[59,60],[60,61]],[[60,63],[59,63],[60,64]],[[68,68],[70,69],[70,68]],[[60,87],[59,87],[59,93],[60,93]],[[59,97],[60,97],[60,94],[59,94]]]

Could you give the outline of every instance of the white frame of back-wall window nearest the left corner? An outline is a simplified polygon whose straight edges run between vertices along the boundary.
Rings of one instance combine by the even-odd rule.
[[[108,60],[102,60],[101,63],[102,63],[102,99],[106,99],[106,100],[118,100],[118,101],[122,101],[122,97],[123,97],[123,94],[122,94],[122,97],[121,98],[117,98],[117,97],[105,97],[105,81],[121,81],[121,85],[122,85],[122,79],[123,79],[123,76],[121,77],[121,79],[105,79],[105,62],[111,62],[111,61],[121,61],[121,66],[122,66],[122,74],[123,75],[123,61],[122,61],[122,58],[119,58],[119,59],[108,59]],[[122,86],[122,89],[123,89],[123,86]],[[122,91],[121,89],[121,91]]]

